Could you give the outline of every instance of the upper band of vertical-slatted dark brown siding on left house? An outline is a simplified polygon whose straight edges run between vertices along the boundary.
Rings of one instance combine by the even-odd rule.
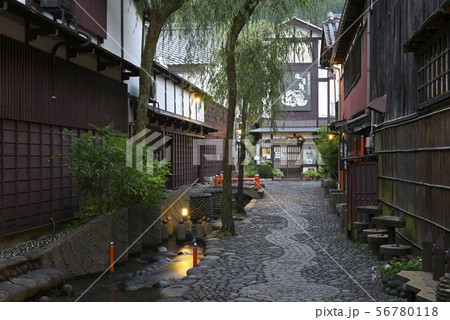
[[[72,128],[114,122],[127,131],[127,86],[65,60],[56,61],[52,100],[51,56],[0,36],[0,118]]]

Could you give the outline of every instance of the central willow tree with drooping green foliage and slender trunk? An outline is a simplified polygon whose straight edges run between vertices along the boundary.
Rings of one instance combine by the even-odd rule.
[[[320,0],[323,1],[323,0]],[[252,25],[258,25],[264,22],[268,26],[272,38],[281,39],[286,36],[283,34],[283,29],[279,28],[283,22],[292,18],[294,10],[303,10],[304,12],[314,12],[314,5],[317,1],[313,0],[191,0],[185,10],[179,11],[178,22],[184,30],[183,36],[189,39],[190,47],[195,47],[200,44],[207,44],[210,51],[211,65],[219,61],[219,68],[215,64],[214,68],[210,68],[211,72],[206,74],[206,79],[209,81],[209,88],[214,92],[223,93],[225,91],[227,110],[226,134],[224,143],[224,181],[222,192],[222,206],[221,219],[222,231],[231,234],[235,233],[233,217],[231,212],[231,171],[232,164],[230,163],[230,143],[234,135],[234,121],[236,116],[236,108],[238,102],[245,100],[253,109],[254,106],[260,106],[261,101],[267,98],[268,95],[274,98],[280,93],[277,86],[280,84],[279,77],[267,79],[271,83],[273,90],[265,90],[259,95],[260,103],[253,104],[250,100],[246,100],[246,94],[252,92],[251,90],[241,90],[241,96],[238,90],[239,79],[243,83],[251,81],[245,88],[251,86],[257,87],[261,85],[261,79],[257,79],[248,73],[248,70],[239,71],[240,64],[239,53],[245,52],[245,44],[255,36],[252,32]],[[267,35],[267,34],[266,34]],[[280,42],[281,43],[281,42]],[[284,42],[286,43],[286,42]],[[240,51],[240,48],[242,49]],[[256,60],[261,56],[255,51],[245,55],[250,60]],[[244,55],[243,55],[244,56]],[[242,56],[242,57],[243,57]],[[243,60],[244,61],[244,60]],[[278,63],[278,60],[274,60]],[[255,65],[255,64],[252,64]],[[264,69],[264,66],[259,65]],[[256,71],[256,70],[254,70]],[[241,74],[242,73],[242,74]],[[223,76],[221,78],[221,75]],[[247,78],[245,78],[247,77]],[[224,81],[220,81],[224,80]],[[219,84],[220,87],[215,86]],[[267,83],[266,83],[267,84]],[[247,93],[245,93],[247,92]],[[219,101],[223,101],[220,98]],[[273,100],[277,100],[274,98]],[[259,110],[260,111],[260,110]]]

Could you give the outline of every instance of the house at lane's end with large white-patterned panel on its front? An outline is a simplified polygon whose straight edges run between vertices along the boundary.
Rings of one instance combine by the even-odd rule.
[[[302,172],[319,168],[320,155],[313,139],[321,126],[334,120],[336,96],[331,73],[318,64],[322,29],[296,17],[288,23],[308,40],[298,44],[303,48],[292,50],[286,92],[280,97],[283,110],[275,120],[263,117],[250,132],[259,140],[259,159],[271,160],[285,177],[300,178]]]

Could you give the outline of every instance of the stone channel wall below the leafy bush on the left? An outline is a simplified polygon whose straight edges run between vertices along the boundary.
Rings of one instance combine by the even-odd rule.
[[[109,268],[111,242],[115,259],[126,263],[128,255],[161,243],[160,215],[161,207],[139,205],[101,215],[43,249],[39,267],[61,270],[65,278],[103,272]]]

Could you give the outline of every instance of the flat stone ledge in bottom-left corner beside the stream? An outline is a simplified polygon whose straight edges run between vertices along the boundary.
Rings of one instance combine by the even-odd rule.
[[[0,302],[20,302],[59,287],[63,273],[57,269],[38,269],[0,282]]]

